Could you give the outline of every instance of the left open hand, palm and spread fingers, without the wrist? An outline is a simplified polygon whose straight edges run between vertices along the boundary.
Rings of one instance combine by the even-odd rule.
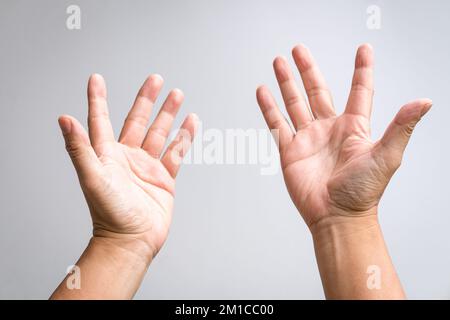
[[[189,115],[174,141],[163,149],[183,94],[172,90],[150,128],[146,129],[162,78],[152,75],[140,89],[120,138],[114,139],[99,75],[88,84],[89,135],[70,116],[59,119],[67,150],[89,205],[94,236],[144,241],[153,255],[170,226],[175,177],[198,120]]]

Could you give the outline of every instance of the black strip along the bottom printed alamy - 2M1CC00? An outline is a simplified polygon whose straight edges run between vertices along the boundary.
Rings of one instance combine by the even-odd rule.
[[[313,319],[321,316],[380,320],[394,314],[447,318],[449,301],[135,300],[1,301],[1,314],[121,319]],[[4,317],[2,317],[4,318]],[[402,317],[403,318],[403,317]],[[334,318],[333,318],[334,319]]]

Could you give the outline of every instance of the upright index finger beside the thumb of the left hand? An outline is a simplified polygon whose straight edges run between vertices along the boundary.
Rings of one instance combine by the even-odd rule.
[[[114,132],[106,103],[105,80],[99,74],[89,78],[88,103],[89,137],[95,152],[100,154],[102,145],[114,142]]]

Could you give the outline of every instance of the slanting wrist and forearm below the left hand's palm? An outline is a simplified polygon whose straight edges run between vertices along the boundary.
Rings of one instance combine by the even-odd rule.
[[[143,243],[93,237],[76,264],[80,288],[69,288],[68,275],[50,299],[131,299],[150,262]]]

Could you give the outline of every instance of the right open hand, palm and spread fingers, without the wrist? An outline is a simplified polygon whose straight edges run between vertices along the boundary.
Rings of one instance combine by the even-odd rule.
[[[291,129],[265,86],[257,99],[268,126],[278,136],[289,194],[311,226],[330,215],[364,215],[378,202],[401,163],[415,124],[431,107],[421,99],[403,106],[383,137],[370,139],[373,53],[359,47],[345,112],[336,116],[331,94],[309,50],[299,45],[293,57],[309,106],[283,57],[274,61],[280,90],[295,128]]]

